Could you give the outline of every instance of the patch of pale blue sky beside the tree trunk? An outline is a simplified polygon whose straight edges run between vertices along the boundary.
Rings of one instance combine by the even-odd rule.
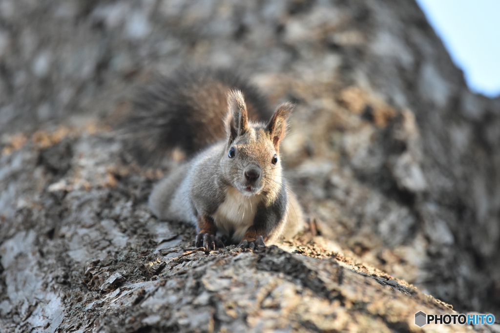
[[[500,95],[500,0],[416,0],[473,92]]]

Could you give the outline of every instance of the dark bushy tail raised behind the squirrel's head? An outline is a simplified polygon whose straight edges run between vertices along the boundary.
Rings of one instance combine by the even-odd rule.
[[[174,147],[187,155],[225,136],[226,93],[241,90],[251,120],[267,120],[266,99],[230,69],[179,69],[159,76],[132,101],[132,114],[121,125],[127,151],[140,164],[154,165]]]

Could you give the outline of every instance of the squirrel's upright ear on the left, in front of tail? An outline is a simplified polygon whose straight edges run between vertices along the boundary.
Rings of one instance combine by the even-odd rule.
[[[229,142],[248,130],[248,114],[240,90],[229,90],[227,93],[227,114],[224,125]]]

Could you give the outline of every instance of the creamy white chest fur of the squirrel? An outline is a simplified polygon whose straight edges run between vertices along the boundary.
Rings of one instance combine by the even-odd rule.
[[[225,190],[225,200],[213,214],[213,220],[218,232],[230,234],[232,240],[240,241],[246,229],[253,223],[260,195],[246,196],[236,188],[229,186]]]

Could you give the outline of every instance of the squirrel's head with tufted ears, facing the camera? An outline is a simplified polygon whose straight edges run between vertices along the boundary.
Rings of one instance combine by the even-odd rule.
[[[282,186],[279,144],[294,105],[278,105],[267,123],[248,120],[243,94],[230,90],[224,119],[226,145],[220,165],[225,181],[242,194],[277,193]]]

